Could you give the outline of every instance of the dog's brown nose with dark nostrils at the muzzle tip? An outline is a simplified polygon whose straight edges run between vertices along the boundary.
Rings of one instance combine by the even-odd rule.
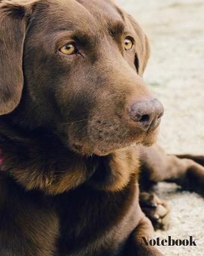
[[[163,104],[157,99],[138,100],[129,108],[129,116],[145,132],[156,129],[163,113]]]

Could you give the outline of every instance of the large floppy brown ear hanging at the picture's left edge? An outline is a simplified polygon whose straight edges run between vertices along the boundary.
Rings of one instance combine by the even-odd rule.
[[[24,76],[24,38],[36,1],[0,0],[0,115],[18,106]]]

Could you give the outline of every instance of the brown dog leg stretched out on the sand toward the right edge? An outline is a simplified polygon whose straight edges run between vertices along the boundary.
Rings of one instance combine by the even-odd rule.
[[[159,181],[175,182],[204,195],[203,156],[168,155],[161,147],[141,147],[140,189],[147,191]]]

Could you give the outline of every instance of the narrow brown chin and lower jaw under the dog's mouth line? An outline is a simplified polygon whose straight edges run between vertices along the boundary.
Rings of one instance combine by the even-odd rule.
[[[101,141],[101,143],[73,143],[71,149],[82,156],[107,156],[122,148],[132,147],[133,145],[142,145],[150,147],[156,143],[158,129],[140,134],[136,138],[128,138],[128,140],[121,140],[115,143],[115,141],[108,140],[108,143]]]

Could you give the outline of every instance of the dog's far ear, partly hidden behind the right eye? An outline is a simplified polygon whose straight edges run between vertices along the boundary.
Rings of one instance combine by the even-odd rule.
[[[135,55],[135,66],[140,76],[143,75],[143,72],[147,66],[147,61],[150,56],[150,45],[147,35],[143,33],[142,28],[136,22],[135,19],[128,13],[126,13],[127,22],[131,25],[131,27],[135,31],[136,35],[136,55]]]

